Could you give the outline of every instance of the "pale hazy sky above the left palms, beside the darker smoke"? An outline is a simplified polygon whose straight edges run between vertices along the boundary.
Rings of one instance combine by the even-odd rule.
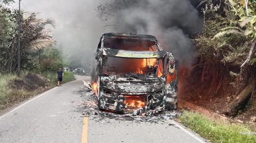
[[[38,17],[52,17],[56,21],[53,36],[56,47],[63,45],[64,55],[82,54],[93,57],[99,38],[110,32],[99,20],[97,6],[100,0],[22,0],[21,8],[25,11],[40,12]],[[18,8],[18,0],[14,7]]]

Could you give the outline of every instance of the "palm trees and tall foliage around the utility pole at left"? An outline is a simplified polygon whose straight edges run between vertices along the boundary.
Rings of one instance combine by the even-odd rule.
[[[1,1],[0,1],[1,2]],[[5,1],[3,1],[4,3]],[[21,11],[21,66],[29,69],[31,53],[56,43],[47,24],[53,19],[37,18],[37,13]],[[11,73],[17,69],[19,11],[0,4],[0,71]]]

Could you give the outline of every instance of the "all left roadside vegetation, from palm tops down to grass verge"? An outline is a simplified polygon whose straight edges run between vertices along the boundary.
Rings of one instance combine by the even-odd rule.
[[[56,71],[68,66],[68,60],[55,48],[50,25],[52,18],[41,19],[38,13],[21,11],[21,75],[18,67],[18,9],[13,0],[0,0],[0,110],[19,103],[56,85]],[[49,27],[49,26],[48,26]],[[63,83],[75,80],[72,72],[64,72]]]

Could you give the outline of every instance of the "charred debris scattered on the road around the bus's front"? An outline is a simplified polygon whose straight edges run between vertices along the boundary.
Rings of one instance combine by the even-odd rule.
[[[167,111],[164,109],[154,110],[135,110],[128,114],[118,114],[111,111],[99,110],[97,104],[97,96],[93,94],[93,90],[84,86],[84,88],[76,94],[82,97],[82,104],[79,105],[79,112],[82,116],[99,117],[99,120],[110,118],[115,120],[137,120],[141,122],[158,122],[163,120],[172,120],[179,115],[178,111]]]

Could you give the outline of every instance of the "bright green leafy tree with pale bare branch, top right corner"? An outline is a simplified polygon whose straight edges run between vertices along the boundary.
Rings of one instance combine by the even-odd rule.
[[[238,23],[233,27],[223,28],[221,32],[214,36],[214,39],[229,36],[231,34],[252,39],[252,45],[248,57],[241,65],[241,70],[248,64],[254,64],[256,52],[256,0],[226,0],[231,12],[238,16],[232,23]],[[242,71],[241,71],[242,72]]]

